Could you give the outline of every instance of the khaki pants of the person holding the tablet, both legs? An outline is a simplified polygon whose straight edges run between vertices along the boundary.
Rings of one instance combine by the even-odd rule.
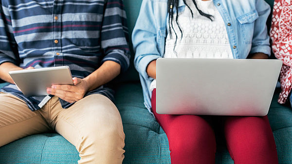
[[[121,164],[125,134],[109,98],[94,94],[63,109],[57,97],[32,112],[11,94],[0,94],[0,147],[19,138],[55,130],[79,152],[78,163]]]

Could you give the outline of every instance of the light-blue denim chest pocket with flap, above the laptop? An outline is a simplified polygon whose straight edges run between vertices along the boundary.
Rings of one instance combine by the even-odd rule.
[[[253,41],[255,21],[257,18],[258,13],[256,12],[256,10],[237,17],[240,32],[245,43],[252,43]]]

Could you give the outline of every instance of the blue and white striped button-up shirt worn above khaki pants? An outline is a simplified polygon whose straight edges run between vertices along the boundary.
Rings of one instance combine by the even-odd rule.
[[[85,78],[105,61],[129,66],[128,28],[122,0],[0,0],[0,64],[22,68],[70,66],[72,76]],[[25,97],[16,85],[0,92],[23,99],[35,111],[48,101]],[[90,94],[113,100],[103,85]],[[52,97],[52,96],[51,96]],[[63,108],[72,103],[60,99]]]

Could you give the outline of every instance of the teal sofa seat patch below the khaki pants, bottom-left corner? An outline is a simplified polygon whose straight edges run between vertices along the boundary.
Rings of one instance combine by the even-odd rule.
[[[56,133],[24,137],[0,147],[0,164],[77,163],[79,153]]]

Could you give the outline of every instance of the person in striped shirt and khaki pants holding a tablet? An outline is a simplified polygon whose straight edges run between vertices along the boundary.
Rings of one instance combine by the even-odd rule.
[[[122,0],[0,0],[0,146],[54,130],[78,163],[122,163],[125,134],[108,82],[129,66]],[[69,66],[74,85],[25,97],[11,70]]]

